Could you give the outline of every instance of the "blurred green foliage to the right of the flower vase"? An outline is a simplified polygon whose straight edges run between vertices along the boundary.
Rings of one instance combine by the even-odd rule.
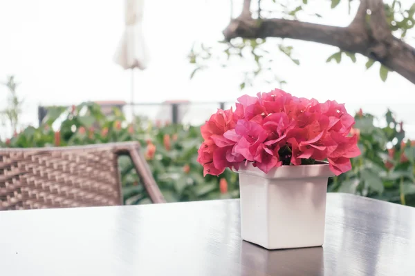
[[[355,119],[362,155],[351,159],[352,170],[333,178],[329,191],[415,206],[415,143],[404,140],[403,123],[389,110],[385,127],[374,126],[369,114]]]

